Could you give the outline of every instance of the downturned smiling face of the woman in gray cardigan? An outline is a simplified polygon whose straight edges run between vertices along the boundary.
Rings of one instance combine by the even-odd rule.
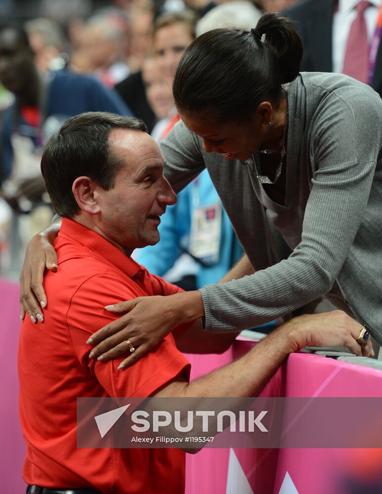
[[[214,124],[203,116],[179,112],[183,123],[202,138],[207,153],[219,153],[228,160],[248,160],[265,139],[262,118],[255,112],[245,124]]]

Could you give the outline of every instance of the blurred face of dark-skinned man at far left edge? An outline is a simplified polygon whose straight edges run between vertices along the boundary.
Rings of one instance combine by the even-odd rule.
[[[35,74],[33,53],[12,28],[0,32],[0,82],[16,95],[28,89]]]

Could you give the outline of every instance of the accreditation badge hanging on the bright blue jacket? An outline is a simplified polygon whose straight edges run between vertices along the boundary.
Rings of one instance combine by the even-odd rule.
[[[222,206],[197,207],[192,211],[190,248],[191,255],[205,264],[219,260],[220,235],[222,229]]]

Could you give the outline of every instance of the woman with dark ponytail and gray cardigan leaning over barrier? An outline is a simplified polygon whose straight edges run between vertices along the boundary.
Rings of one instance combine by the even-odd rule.
[[[301,56],[296,31],[275,13],[186,50],[165,175],[178,192],[207,167],[246,255],[223,283],[115,305],[128,314],[108,325],[116,334],[96,355],[129,339],[141,345],[133,362],[197,317],[210,331],[245,329],[322,296],[382,344],[382,102],[349,77],[300,74]]]

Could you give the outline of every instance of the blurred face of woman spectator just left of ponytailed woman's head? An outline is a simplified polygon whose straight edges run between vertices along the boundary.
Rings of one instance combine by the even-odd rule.
[[[185,22],[164,26],[153,38],[154,57],[168,84],[171,86],[175,71],[183,53],[193,41],[190,29]]]

